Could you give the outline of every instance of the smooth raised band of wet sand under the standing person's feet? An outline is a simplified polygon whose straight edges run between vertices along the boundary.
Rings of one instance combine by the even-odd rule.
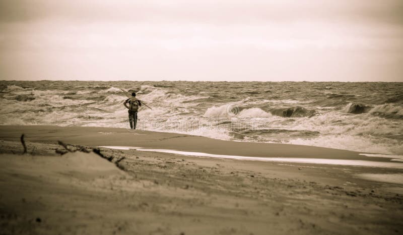
[[[366,152],[323,148],[307,145],[255,143],[217,140],[153,131],[132,131],[125,128],[59,127],[59,126],[0,126],[0,139],[19,140],[25,134],[27,141],[44,142],[58,140],[87,146],[131,146],[152,149],[169,149],[187,152],[203,152],[217,155],[248,157],[295,157],[344,160],[371,160],[389,162],[385,157],[367,157]],[[366,153],[367,154],[367,153]]]

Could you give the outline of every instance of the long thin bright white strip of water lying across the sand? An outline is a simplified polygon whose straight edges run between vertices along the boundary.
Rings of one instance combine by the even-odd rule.
[[[310,164],[330,164],[330,165],[352,165],[352,166],[368,166],[380,168],[398,168],[403,169],[402,163],[397,162],[378,162],[378,161],[364,161],[364,160],[343,160],[343,159],[323,159],[323,158],[292,158],[292,157],[248,157],[248,156],[235,156],[235,155],[219,155],[201,152],[186,152],[170,149],[145,149],[139,148],[137,151],[146,152],[162,152],[171,153],[192,157],[212,157],[221,159],[235,159],[235,160],[251,160],[251,161],[271,161],[271,162],[297,162],[297,163],[310,163]]]

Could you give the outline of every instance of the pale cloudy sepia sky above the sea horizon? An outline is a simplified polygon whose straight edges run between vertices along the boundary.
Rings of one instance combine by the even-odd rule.
[[[400,81],[401,0],[0,0],[0,80]]]

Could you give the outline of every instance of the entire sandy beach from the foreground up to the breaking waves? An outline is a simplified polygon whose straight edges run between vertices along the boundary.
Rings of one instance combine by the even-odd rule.
[[[25,133],[28,153],[21,155]],[[118,128],[0,127],[0,234],[399,234],[402,169],[240,161],[75,145],[368,160],[357,152]],[[124,157],[124,159],[122,159]],[[370,160],[389,161],[371,157]],[[399,164],[399,163],[397,163]],[[403,163],[401,163],[403,164]]]

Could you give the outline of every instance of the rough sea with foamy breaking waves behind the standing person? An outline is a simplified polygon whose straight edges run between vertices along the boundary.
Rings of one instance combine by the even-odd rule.
[[[403,155],[403,83],[0,81],[0,125],[132,131],[119,88],[138,129]]]

